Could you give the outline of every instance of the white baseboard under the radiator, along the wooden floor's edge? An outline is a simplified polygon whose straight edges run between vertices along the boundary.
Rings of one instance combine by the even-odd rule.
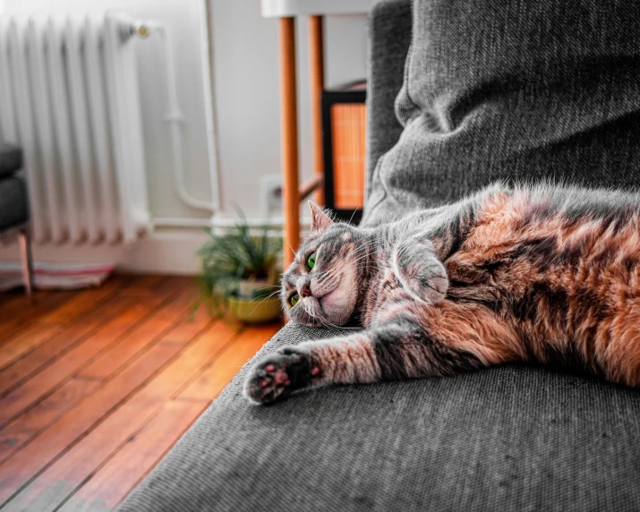
[[[33,260],[64,263],[111,263],[141,274],[194,276],[200,272],[195,252],[208,235],[201,229],[158,230],[130,246],[34,244]],[[0,243],[0,261],[18,261],[17,243]]]

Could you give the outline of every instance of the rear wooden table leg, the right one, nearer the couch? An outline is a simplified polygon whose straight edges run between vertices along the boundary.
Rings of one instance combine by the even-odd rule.
[[[311,136],[313,138],[313,170],[324,174],[322,158],[322,103],[324,89],[324,38],[322,22],[324,16],[309,17],[309,67],[311,69]],[[324,204],[324,190],[315,193],[315,201]]]

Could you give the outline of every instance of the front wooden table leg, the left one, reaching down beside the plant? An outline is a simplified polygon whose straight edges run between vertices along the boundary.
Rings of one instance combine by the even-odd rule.
[[[298,120],[295,90],[294,18],[279,20],[280,122],[282,132],[282,199],[285,217],[285,268],[294,260],[300,244],[300,202],[298,195]]]

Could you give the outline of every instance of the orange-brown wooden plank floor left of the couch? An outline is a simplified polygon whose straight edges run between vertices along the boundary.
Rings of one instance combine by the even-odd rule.
[[[0,294],[0,510],[112,510],[279,329],[190,316],[192,278]]]

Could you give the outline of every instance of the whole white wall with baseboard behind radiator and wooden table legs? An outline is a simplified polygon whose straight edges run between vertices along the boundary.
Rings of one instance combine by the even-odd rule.
[[[201,34],[205,0],[4,0],[7,12],[86,13],[114,9],[166,24],[174,42],[178,95],[186,119],[185,174],[188,190],[210,200],[204,90],[201,80]],[[0,3],[3,0],[0,0]],[[218,132],[221,217],[234,216],[232,204],[249,218],[263,218],[260,177],[279,175],[280,124],[277,21],[260,16],[259,0],[209,0],[212,27],[212,74]],[[326,79],[329,85],[366,75],[366,26],[363,16],[326,21]],[[298,20],[297,62],[300,163],[303,178],[311,175],[307,22]],[[141,41],[140,79],[145,132],[149,201],[156,217],[209,218],[175,193],[162,121],[162,90],[158,87],[158,47]],[[200,230],[164,230],[132,248],[36,247],[36,260],[110,261],[125,268],[190,273],[197,269],[192,250],[201,243]],[[176,242],[173,243],[172,241]],[[158,254],[158,243],[162,251]],[[0,248],[0,260],[14,259],[14,248]]]

